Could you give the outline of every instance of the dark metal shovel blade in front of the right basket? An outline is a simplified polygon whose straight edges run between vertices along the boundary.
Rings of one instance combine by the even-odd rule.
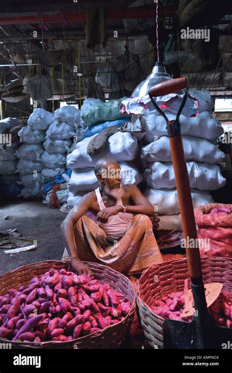
[[[222,349],[232,342],[232,328],[217,326],[207,314],[193,316],[190,323],[165,319],[163,322],[164,349]]]

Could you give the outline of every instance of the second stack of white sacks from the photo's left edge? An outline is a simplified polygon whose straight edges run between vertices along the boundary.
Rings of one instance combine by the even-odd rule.
[[[40,196],[43,183],[43,142],[46,129],[53,117],[52,113],[44,109],[35,109],[27,120],[27,126],[19,131],[20,141],[23,144],[16,151],[16,155],[20,159],[17,169],[23,184],[21,195],[24,198]]]

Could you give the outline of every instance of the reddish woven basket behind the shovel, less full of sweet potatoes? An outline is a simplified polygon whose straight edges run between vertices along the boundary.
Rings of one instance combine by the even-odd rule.
[[[201,261],[204,282],[221,282],[223,290],[232,292],[232,258],[215,256],[202,258]],[[186,278],[189,279],[190,289],[187,259],[184,258],[149,267],[137,283],[139,319],[146,340],[153,348],[163,348],[164,319],[150,306],[154,300],[159,300],[172,291],[183,291]]]

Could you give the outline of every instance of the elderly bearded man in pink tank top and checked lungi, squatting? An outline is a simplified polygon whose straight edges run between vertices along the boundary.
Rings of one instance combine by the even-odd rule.
[[[162,263],[150,219],[157,218],[153,206],[135,185],[121,184],[115,160],[100,159],[94,172],[100,187],[86,194],[61,224],[66,243],[62,260],[71,260],[78,273],[91,275],[83,260],[128,275]],[[96,216],[96,223],[84,215],[87,211]]]

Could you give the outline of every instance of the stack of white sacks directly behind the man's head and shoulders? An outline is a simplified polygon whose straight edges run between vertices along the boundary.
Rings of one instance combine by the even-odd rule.
[[[78,142],[76,149],[67,157],[67,166],[73,170],[68,183],[70,207],[76,205],[83,195],[99,186],[94,174],[94,166],[100,158],[113,158],[119,163],[122,184],[138,185],[142,181],[138,168],[130,163],[139,156],[139,144],[135,136],[129,132],[116,132],[109,137],[108,146],[104,150],[90,156],[87,154],[87,147],[95,136],[97,134]]]

